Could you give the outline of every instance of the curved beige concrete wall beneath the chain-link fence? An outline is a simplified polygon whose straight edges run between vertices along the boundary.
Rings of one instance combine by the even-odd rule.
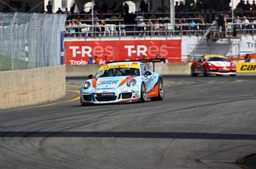
[[[29,106],[66,94],[65,65],[0,72],[0,109]]]

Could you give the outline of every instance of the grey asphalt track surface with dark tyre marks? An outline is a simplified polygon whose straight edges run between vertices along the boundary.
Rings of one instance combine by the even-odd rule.
[[[168,75],[163,101],[80,106],[85,79],[0,111],[0,168],[233,169],[256,152],[256,76]]]

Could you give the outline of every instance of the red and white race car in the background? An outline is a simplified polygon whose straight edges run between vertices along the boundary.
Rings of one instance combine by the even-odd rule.
[[[191,76],[208,75],[237,75],[234,63],[221,55],[203,55],[191,64]]]

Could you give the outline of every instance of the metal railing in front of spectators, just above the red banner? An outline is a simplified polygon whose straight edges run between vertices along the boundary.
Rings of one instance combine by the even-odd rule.
[[[146,24],[142,29],[138,29],[137,24],[105,24],[99,26],[93,26],[91,24],[82,24],[81,27],[65,27],[65,37],[77,37],[77,38],[102,38],[102,37],[113,37],[117,36],[134,36],[134,38],[150,37],[153,36],[164,36],[165,38],[173,38],[174,36],[183,35],[191,37],[192,35],[197,36],[198,41],[200,36],[206,33],[209,27],[212,27],[211,38],[223,38],[252,35],[254,39],[255,35],[255,24],[251,23],[248,25],[228,23],[225,26],[225,30],[222,27],[217,27],[217,24]],[[235,29],[234,29],[235,26]]]

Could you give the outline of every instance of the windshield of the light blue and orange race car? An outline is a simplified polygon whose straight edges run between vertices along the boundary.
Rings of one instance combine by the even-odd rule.
[[[95,78],[99,77],[116,77],[116,76],[131,76],[131,75],[140,75],[140,69],[137,68],[111,68],[99,70]]]

